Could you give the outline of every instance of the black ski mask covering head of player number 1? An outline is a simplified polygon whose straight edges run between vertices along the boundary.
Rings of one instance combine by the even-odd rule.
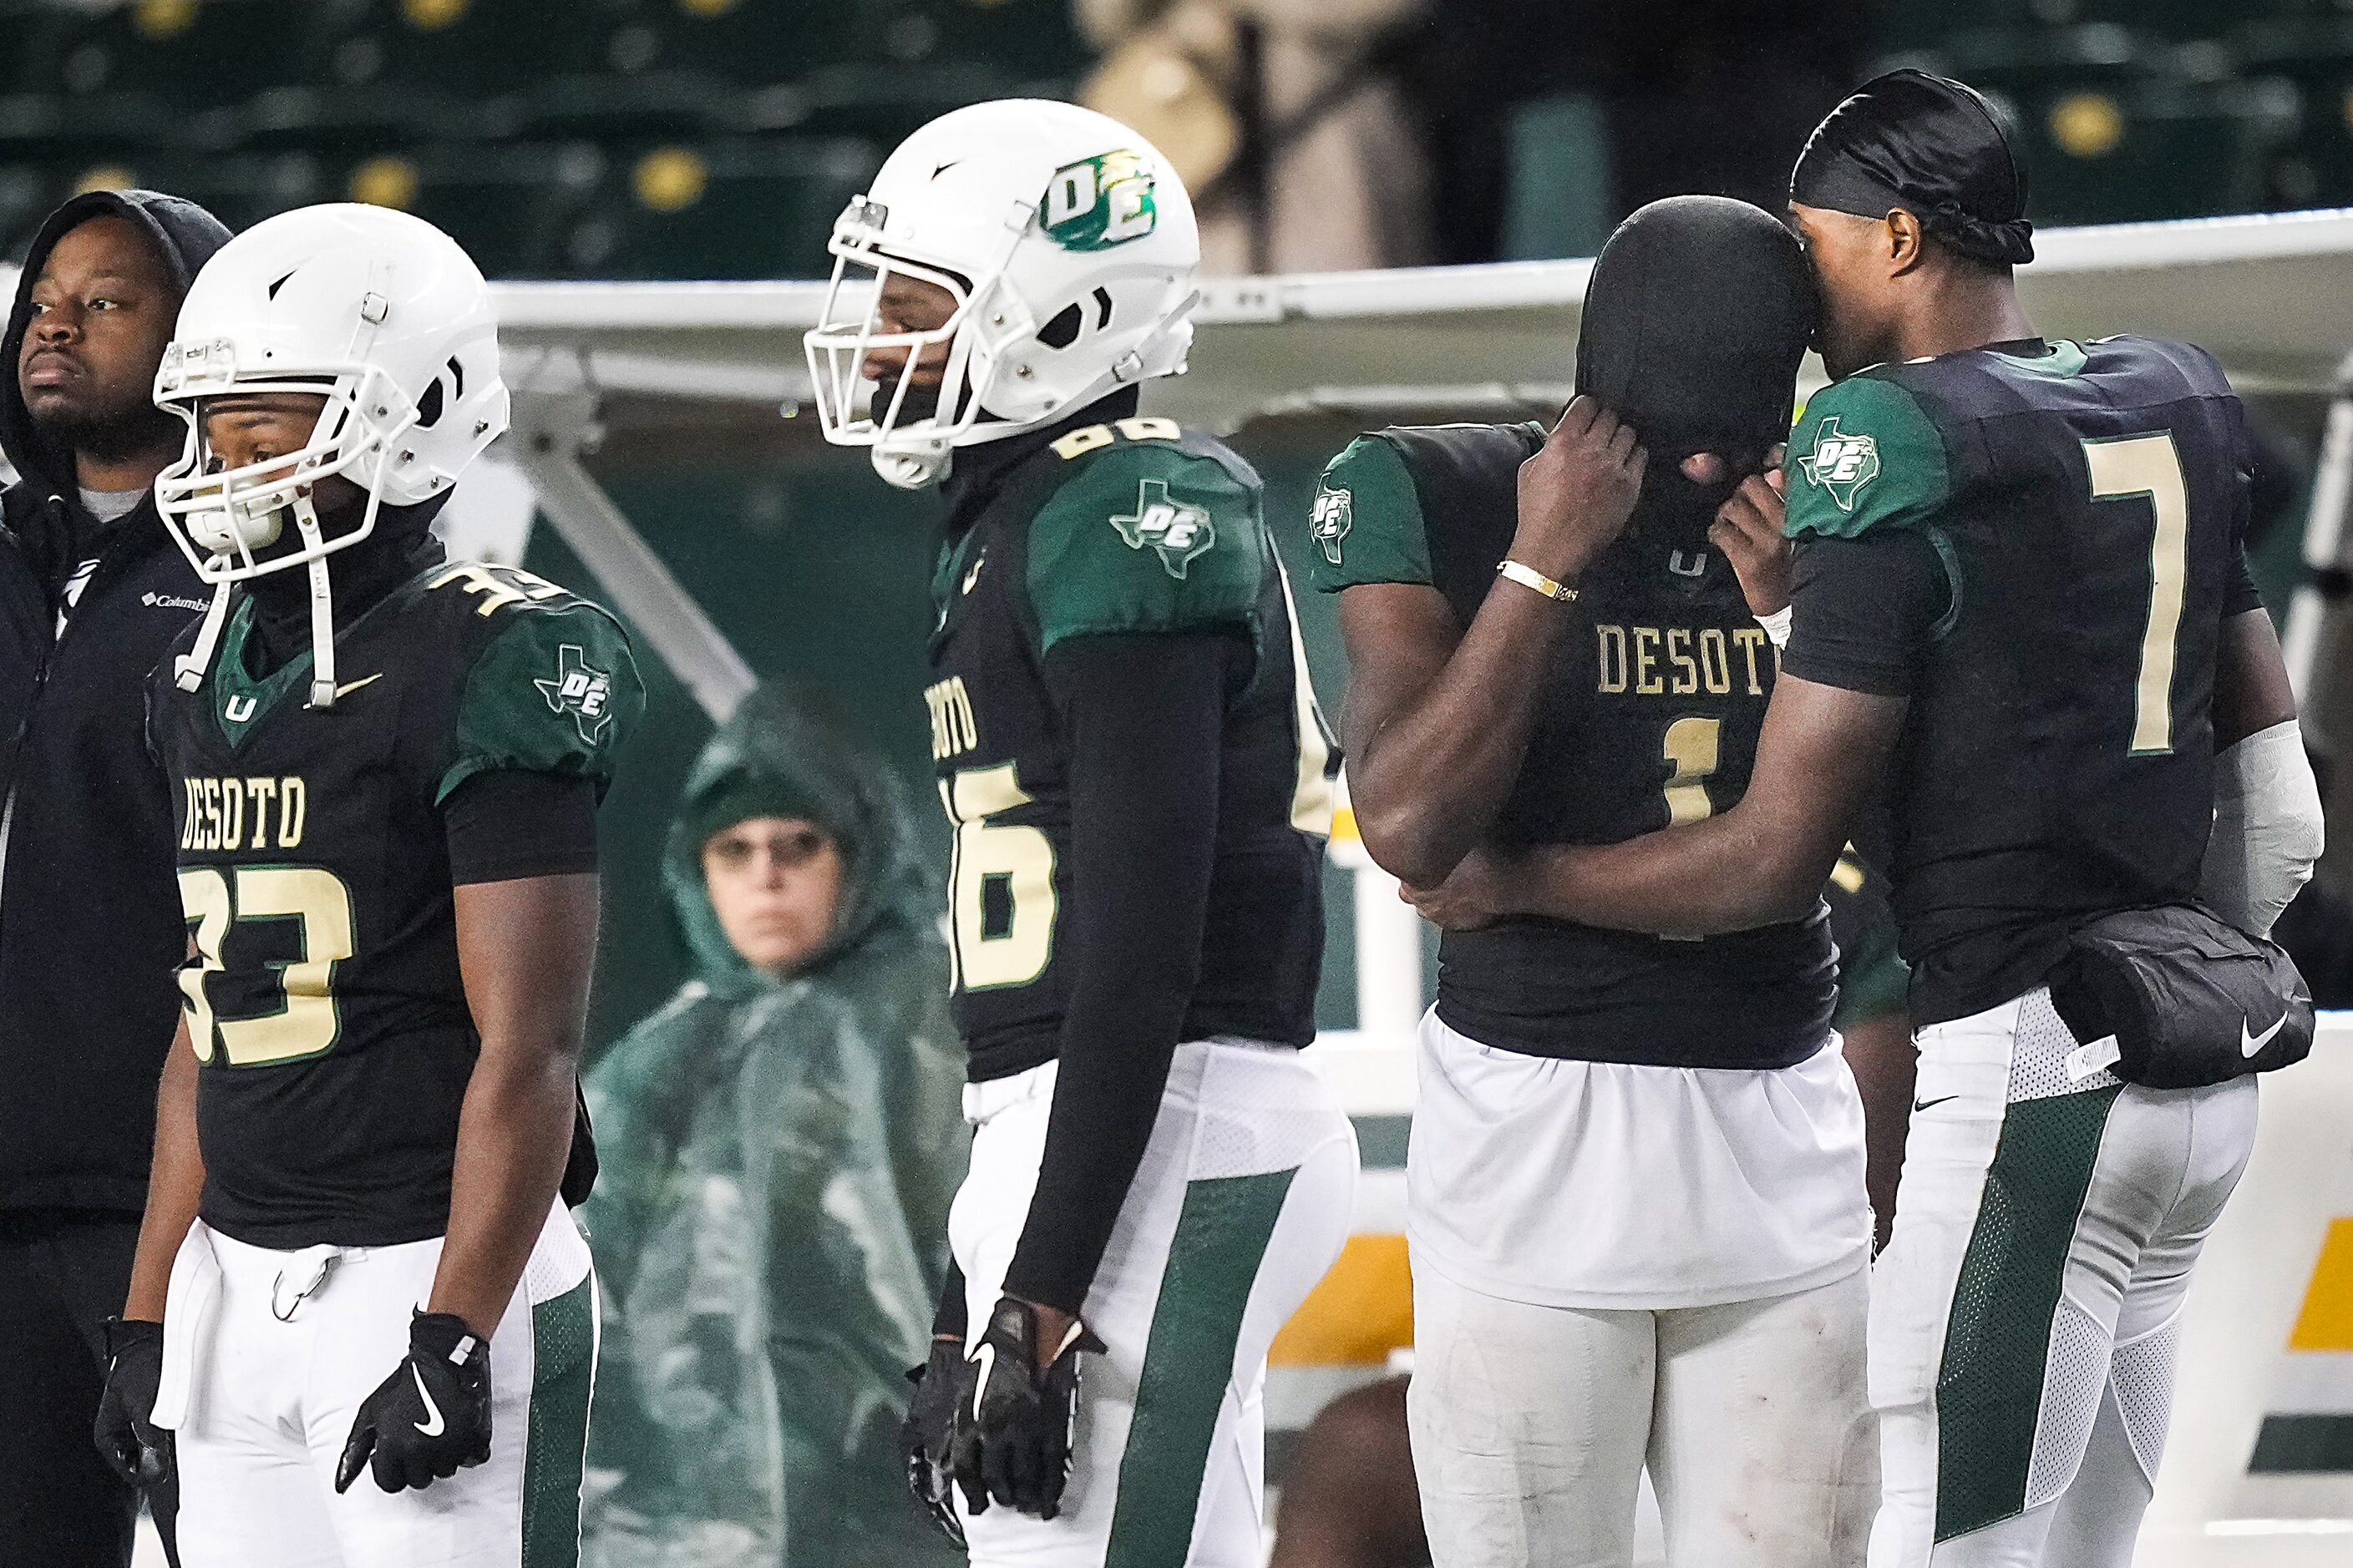
[[[1617,226],[1593,263],[1577,334],[1577,390],[1649,449],[1628,536],[1697,548],[1715,510],[1788,440],[1814,282],[1798,240],[1762,207],[1675,195]],[[1713,451],[1732,477],[1694,484]]]

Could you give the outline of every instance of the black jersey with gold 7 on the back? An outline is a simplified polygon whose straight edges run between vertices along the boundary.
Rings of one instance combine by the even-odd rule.
[[[1892,597],[1873,562],[1941,569],[1885,802],[1918,1023],[2031,990],[2087,917],[2195,893],[2219,628],[2257,604],[2249,451],[2221,367],[2151,339],[1882,364],[1805,409],[1791,672],[1871,689],[1814,604]]]

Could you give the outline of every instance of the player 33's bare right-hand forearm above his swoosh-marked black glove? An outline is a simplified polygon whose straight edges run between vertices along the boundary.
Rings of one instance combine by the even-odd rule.
[[[454,1312],[485,1340],[548,1222],[572,1154],[569,1051],[485,1041],[456,1128],[449,1232],[426,1312]]]

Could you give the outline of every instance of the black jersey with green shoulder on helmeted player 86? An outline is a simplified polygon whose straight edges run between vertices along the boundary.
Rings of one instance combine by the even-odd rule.
[[[1059,1051],[1071,795],[1045,656],[1080,635],[1249,635],[1257,665],[1226,712],[1209,919],[1184,1039],[1308,1044],[1339,752],[1315,710],[1257,473],[1205,435],[1136,416],[1005,461],[941,548],[925,693],[955,825],[953,1011],[974,1081]]]

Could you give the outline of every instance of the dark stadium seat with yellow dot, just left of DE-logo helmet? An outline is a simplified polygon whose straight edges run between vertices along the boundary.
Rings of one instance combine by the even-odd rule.
[[[821,277],[842,205],[878,167],[864,141],[715,141],[616,160],[572,226],[584,277]]]

